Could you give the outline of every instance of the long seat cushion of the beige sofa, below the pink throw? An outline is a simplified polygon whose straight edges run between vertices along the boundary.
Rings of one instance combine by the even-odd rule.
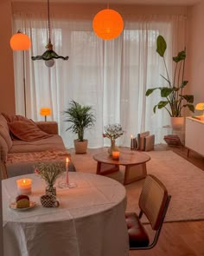
[[[51,149],[65,149],[60,135],[53,135],[40,141],[13,141],[13,146],[10,148],[9,153],[39,152]]]

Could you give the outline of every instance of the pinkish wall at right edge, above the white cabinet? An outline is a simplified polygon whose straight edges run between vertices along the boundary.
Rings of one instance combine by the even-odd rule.
[[[188,16],[188,92],[194,95],[195,105],[204,102],[204,1],[194,5]]]

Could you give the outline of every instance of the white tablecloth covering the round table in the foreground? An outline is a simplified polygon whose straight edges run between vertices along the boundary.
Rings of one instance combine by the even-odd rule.
[[[5,256],[124,256],[128,255],[128,233],[124,220],[124,186],[110,178],[69,173],[77,187],[57,187],[58,208],[41,206],[45,183],[35,174],[30,200],[36,207],[10,209],[15,201],[16,180],[3,181],[3,246]]]

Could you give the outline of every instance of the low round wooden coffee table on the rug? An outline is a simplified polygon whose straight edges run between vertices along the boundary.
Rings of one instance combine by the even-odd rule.
[[[139,151],[120,151],[119,160],[113,160],[108,152],[94,154],[93,159],[97,161],[96,174],[111,174],[119,170],[119,166],[125,167],[124,185],[143,179],[147,174],[146,162],[150,156]]]

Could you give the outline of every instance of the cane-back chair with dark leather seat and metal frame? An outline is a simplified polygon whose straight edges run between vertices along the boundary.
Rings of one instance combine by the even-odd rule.
[[[166,187],[154,175],[147,175],[139,197],[140,213],[125,213],[129,233],[130,250],[145,250],[156,246],[171,196]],[[150,241],[141,218],[143,214],[150,221],[155,236]]]

